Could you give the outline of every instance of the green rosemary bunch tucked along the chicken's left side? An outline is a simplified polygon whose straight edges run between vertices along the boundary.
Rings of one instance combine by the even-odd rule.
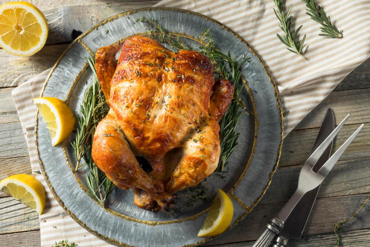
[[[76,138],[71,145],[74,148],[75,157],[77,158],[75,171],[88,166],[90,170],[86,176],[88,193],[104,206],[115,185],[94,163],[91,147],[95,128],[105,115],[107,115],[108,108],[106,107],[105,97],[97,79],[95,60],[90,56],[90,59],[87,59],[87,61],[94,73],[94,77],[90,86],[85,90],[83,103],[80,107],[80,116],[77,117],[79,127]],[[84,163],[79,166],[82,159]]]

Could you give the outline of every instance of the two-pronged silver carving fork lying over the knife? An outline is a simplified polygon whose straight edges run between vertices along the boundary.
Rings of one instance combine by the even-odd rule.
[[[338,134],[340,129],[343,127],[344,123],[348,120],[350,114],[345,117],[342,122],[329,134],[329,136],[316,148],[306,160],[305,164],[299,174],[298,186],[295,193],[290,197],[287,203],[279,211],[276,217],[273,217],[269,224],[267,224],[266,230],[258,238],[253,247],[268,247],[272,243],[273,239],[280,233],[280,230],[284,227],[284,223],[294,210],[295,206],[303,198],[303,196],[318,187],[324,178],[327,176],[330,170],[332,170],[335,163],[342,156],[344,150],[349,146],[353,139],[357,136],[360,130],[363,128],[364,124],[361,124],[359,128],[338,148],[338,150],[327,159],[327,161],[317,169],[316,172],[313,171],[315,164],[319,161],[320,157],[326,151],[327,147],[332,143],[334,137]],[[315,169],[316,170],[316,169]],[[312,206],[311,206],[312,207]],[[308,216],[307,216],[308,217]],[[307,219],[306,219],[307,220]],[[303,229],[302,229],[303,230]],[[282,237],[277,239],[275,243],[276,247],[285,246],[287,241]]]

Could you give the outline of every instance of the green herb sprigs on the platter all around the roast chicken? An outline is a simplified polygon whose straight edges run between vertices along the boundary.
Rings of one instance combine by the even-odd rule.
[[[156,20],[137,19],[137,22],[148,23],[151,27],[147,31],[147,35],[159,41],[160,43],[168,43],[172,49],[188,50],[180,40],[179,36],[166,31],[158,24]],[[238,146],[239,132],[237,126],[243,114],[248,114],[253,117],[252,112],[245,106],[241,96],[246,93],[245,84],[242,81],[241,68],[244,63],[250,59],[243,58],[241,61],[233,59],[230,52],[222,53],[215,46],[209,29],[199,34],[198,41],[200,43],[199,52],[209,57],[213,63],[216,79],[226,79],[232,81],[235,86],[233,100],[230,103],[229,109],[222,117],[220,124],[220,147],[221,154],[218,167],[215,173],[218,176],[225,178],[225,168],[228,166],[228,158],[231,156],[235,148]],[[107,176],[95,165],[91,157],[92,137],[94,136],[97,124],[108,113],[108,107],[105,103],[104,94],[101,91],[100,84],[97,80],[95,71],[95,59],[87,58],[90,69],[94,73],[94,77],[90,86],[86,89],[83,103],[80,106],[80,115],[78,119],[78,129],[75,140],[71,145],[74,149],[74,154],[77,159],[77,164],[74,172],[87,166],[89,172],[87,174],[87,186],[91,197],[97,200],[102,206],[105,206],[107,198],[110,196],[115,185],[107,178]],[[82,161],[84,161],[82,163]],[[228,167],[229,168],[229,167]],[[197,186],[186,188],[177,193],[179,199],[189,197],[190,203],[187,207],[195,206],[199,199],[206,200],[207,182],[206,179]],[[179,209],[175,209],[179,211]]]

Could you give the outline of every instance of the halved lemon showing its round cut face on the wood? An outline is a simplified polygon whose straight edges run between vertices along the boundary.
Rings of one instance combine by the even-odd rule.
[[[0,6],[0,46],[11,54],[28,57],[43,48],[49,27],[33,4],[10,2]]]

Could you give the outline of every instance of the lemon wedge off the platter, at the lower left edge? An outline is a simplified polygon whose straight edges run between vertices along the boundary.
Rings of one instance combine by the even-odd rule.
[[[28,174],[16,174],[0,181],[0,189],[41,214],[45,207],[44,186]]]

